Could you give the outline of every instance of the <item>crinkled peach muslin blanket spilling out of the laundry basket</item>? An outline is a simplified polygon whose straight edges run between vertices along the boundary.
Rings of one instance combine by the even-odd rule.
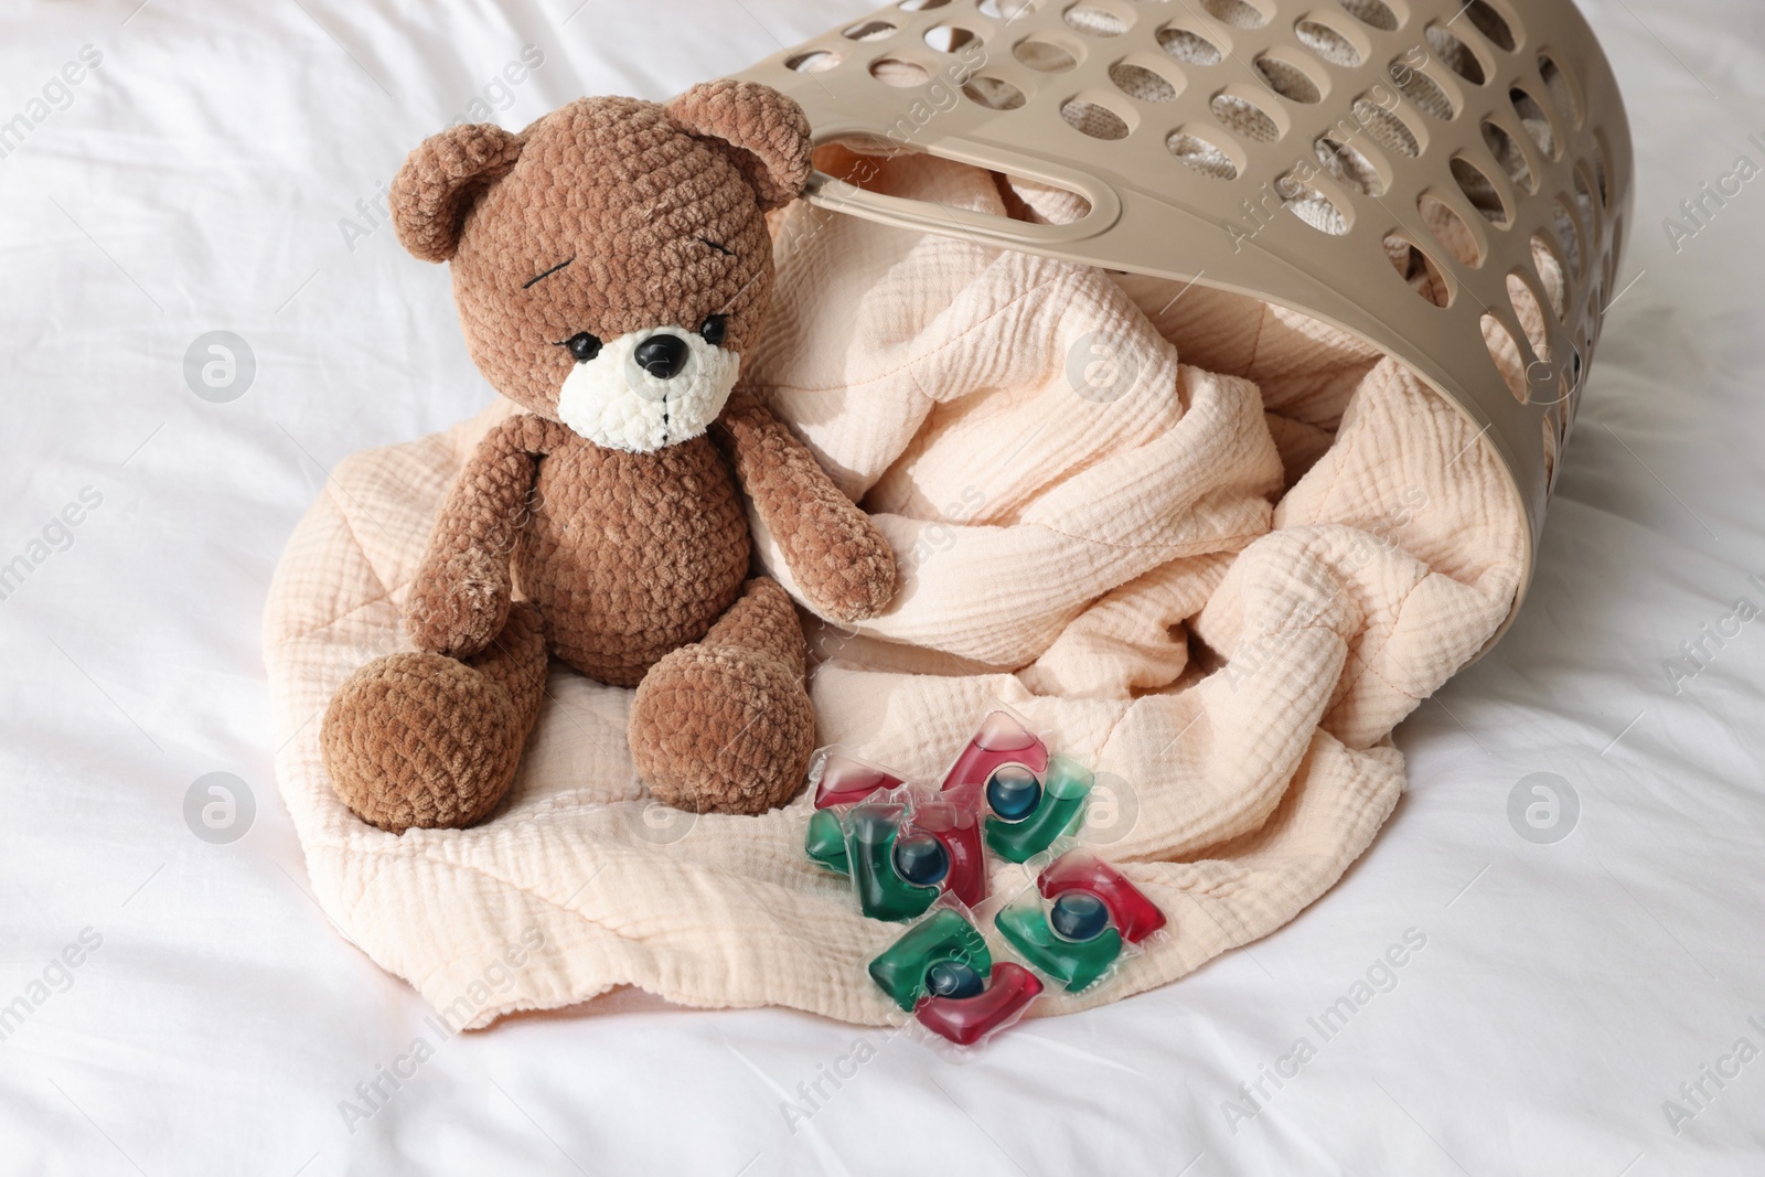
[[[930,159],[877,185],[1004,206],[987,173]],[[1006,191],[1020,215],[1038,196]],[[1520,506],[1476,431],[1340,332],[1200,286],[801,203],[777,254],[747,374],[902,565],[886,616],[810,625],[821,741],[935,780],[1010,704],[1098,769],[1082,838],[1170,916],[1151,951],[1041,1009],[1163,985],[1329,889],[1403,791],[1393,725],[1516,589]],[[404,648],[431,519],[510,411],[341,462],[282,556],[277,775],[319,903],[455,1023],[620,985],[898,1018],[865,962],[900,926],[805,858],[808,798],[660,810],[627,753],[630,692],[554,669],[514,792],[475,829],[392,836],[332,794],[319,715]],[[789,588],[764,535],[759,554]],[[994,893],[1027,881],[997,865]]]

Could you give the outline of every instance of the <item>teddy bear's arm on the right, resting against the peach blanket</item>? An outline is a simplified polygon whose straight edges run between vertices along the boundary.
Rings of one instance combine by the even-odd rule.
[[[835,621],[882,612],[895,598],[895,554],[815,455],[741,390],[729,399],[717,439],[808,603]]]

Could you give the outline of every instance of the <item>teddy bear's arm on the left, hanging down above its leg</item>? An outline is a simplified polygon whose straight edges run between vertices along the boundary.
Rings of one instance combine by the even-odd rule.
[[[404,603],[404,628],[418,649],[469,658],[501,633],[533,461],[551,452],[561,429],[526,413],[510,416],[466,459]]]

